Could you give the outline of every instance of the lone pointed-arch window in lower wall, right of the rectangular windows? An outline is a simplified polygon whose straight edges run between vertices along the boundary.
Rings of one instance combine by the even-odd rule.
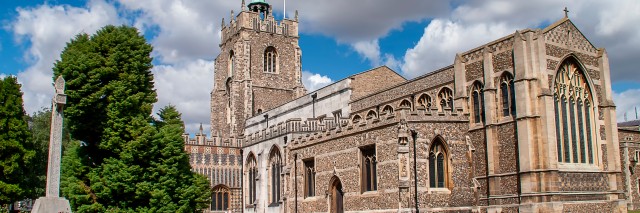
[[[435,139],[429,150],[429,186],[431,188],[447,187],[447,159],[448,153],[444,142],[441,138]]]

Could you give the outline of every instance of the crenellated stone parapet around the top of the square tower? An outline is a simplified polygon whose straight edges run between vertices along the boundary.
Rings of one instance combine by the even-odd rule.
[[[271,14],[263,17],[260,13],[253,11],[241,11],[234,17],[232,11],[231,20],[228,23],[225,23],[225,20],[222,19],[220,44],[224,44],[227,40],[233,38],[233,35],[242,30],[298,37],[298,17],[296,15],[293,20],[283,19],[278,21]]]

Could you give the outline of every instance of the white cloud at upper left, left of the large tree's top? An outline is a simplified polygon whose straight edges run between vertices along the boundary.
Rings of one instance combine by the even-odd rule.
[[[107,24],[118,24],[117,11],[112,5],[93,0],[86,8],[40,5],[18,8],[18,16],[6,28],[13,31],[16,41],[28,46],[24,55],[30,64],[18,73],[24,92],[25,110],[31,114],[49,107],[53,95],[53,63],[75,35],[94,33]]]

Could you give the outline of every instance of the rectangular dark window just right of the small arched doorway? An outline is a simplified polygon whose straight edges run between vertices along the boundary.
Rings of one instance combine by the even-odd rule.
[[[376,175],[376,147],[368,146],[360,149],[362,154],[362,171],[360,177],[363,192],[378,190],[378,182]]]

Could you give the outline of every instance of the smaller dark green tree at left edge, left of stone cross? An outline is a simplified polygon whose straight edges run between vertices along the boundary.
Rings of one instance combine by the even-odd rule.
[[[34,181],[27,168],[36,153],[25,118],[18,79],[0,79],[0,205],[24,199]]]

